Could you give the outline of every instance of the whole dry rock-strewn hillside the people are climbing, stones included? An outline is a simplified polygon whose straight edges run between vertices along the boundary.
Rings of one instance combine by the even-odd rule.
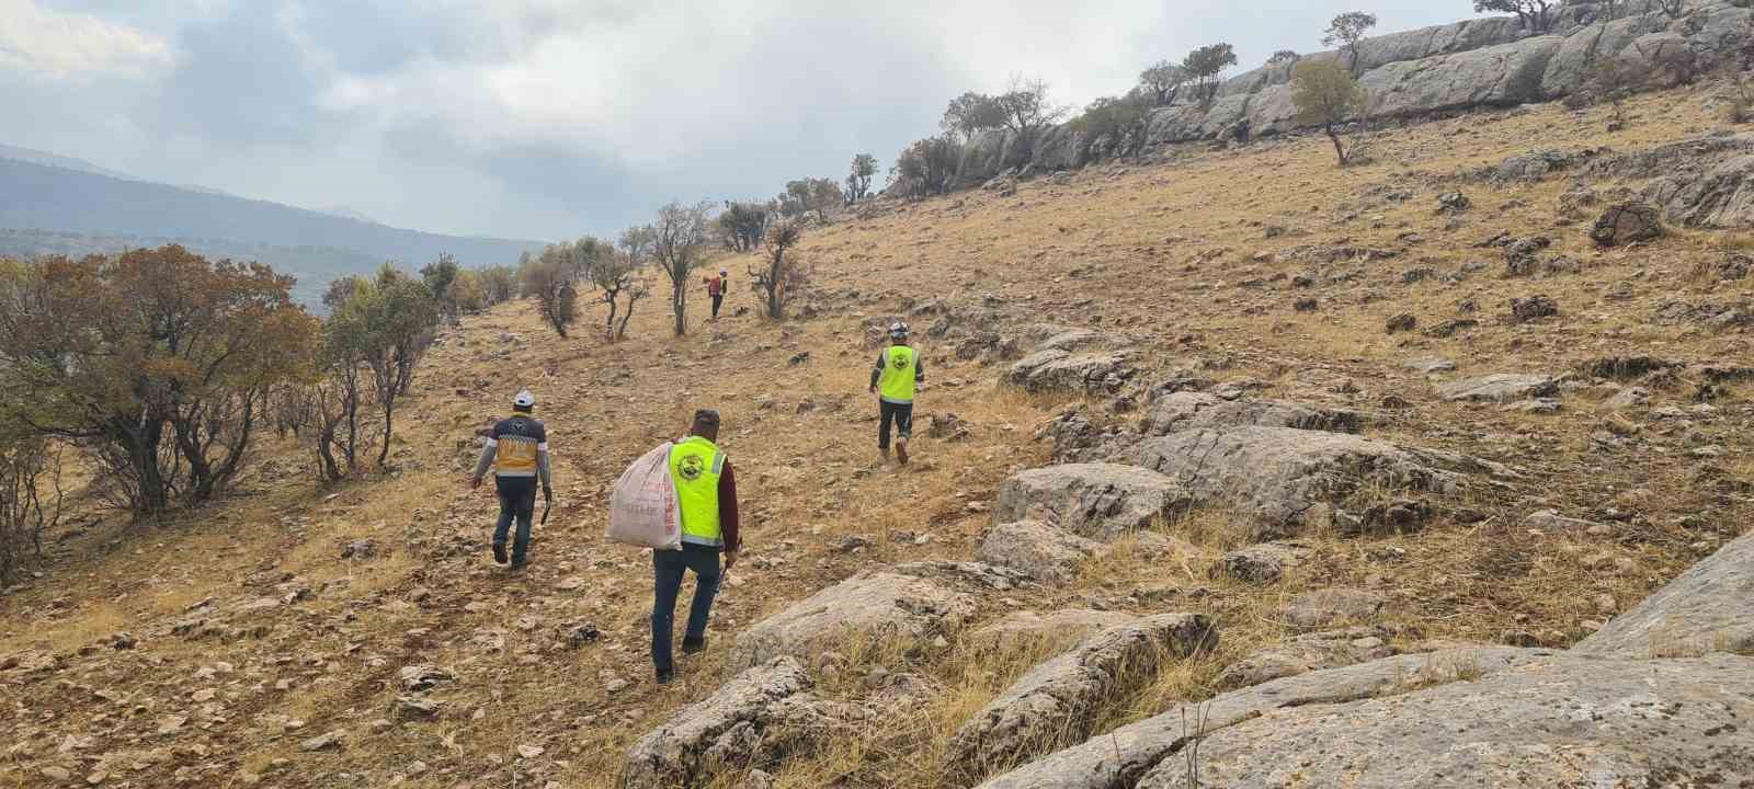
[[[1754,687],[1750,130],[1722,86],[1173,149],[814,228],[805,317],[475,316],[396,472],[270,447],[0,596],[7,785],[1736,785]],[[733,274],[742,261],[726,259]],[[751,303],[742,289],[730,307]],[[872,337],[923,331],[917,463]],[[486,542],[530,386],[560,498]],[[651,684],[621,468],[719,407],[747,507]]]

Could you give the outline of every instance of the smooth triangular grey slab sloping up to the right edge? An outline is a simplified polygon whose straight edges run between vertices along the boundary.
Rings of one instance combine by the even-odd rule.
[[[1608,658],[1754,654],[1754,535],[1724,545],[1572,650]]]

